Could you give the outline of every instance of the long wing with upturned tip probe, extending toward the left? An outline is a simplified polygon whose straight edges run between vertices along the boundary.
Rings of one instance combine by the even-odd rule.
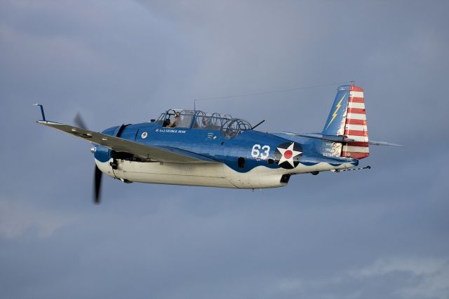
[[[76,137],[85,139],[93,144],[105,146],[114,151],[130,153],[136,157],[142,159],[151,159],[160,162],[173,162],[173,163],[214,163],[218,162],[204,155],[199,155],[190,151],[185,151],[180,148],[173,147],[159,147],[159,146],[147,146],[146,144],[140,144],[135,141],[127,139],[121,139],[119,137],[109,136],[98,132],[92,132],[90,130],[81,129],[80,127],[74,127],[72,125],[65,125],[62,123],[53,123],[50,121],[38,120],[36,123],[53,127],[62,132],[72,134]]]

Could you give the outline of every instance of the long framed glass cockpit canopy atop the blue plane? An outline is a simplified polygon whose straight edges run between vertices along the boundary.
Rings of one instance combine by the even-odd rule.
[[[156,120],[163,127],[177,127],[186,129],[220,130],[225,138],[232,138],[241,132],[251,130],[248,121],[232,118],[228,114],[205,113],[199,110],[170,109]]]

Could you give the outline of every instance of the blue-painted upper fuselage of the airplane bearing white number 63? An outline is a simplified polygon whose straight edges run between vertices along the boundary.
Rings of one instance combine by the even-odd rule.
[[[354,166],[358,163],[357,160],[350,158],[333,157],[329,150],[333,146],[332,142],[293,137],[284,133],[269,134],[244,130],[232,138],[227,138],[220,130],[170,128],[157,123],[140,123],[123,128],[110,127],[103,133],[149,146],[180,148],[198,153],[241,173],[249,172],[258,166],[279,169],[280,153],[277,148],[292,143],[295,143],[301,151],[301,154],[295,157],[295,164],[299,162],[300,165],[312,166],[323,162],[337,167],[348,162]],[[95,159],[107,162],[111,158],[110,152],[108,148],[97,146]],[[294,168],[297,168],[296,165]],[[290,167],[286,172],[299,173]]]

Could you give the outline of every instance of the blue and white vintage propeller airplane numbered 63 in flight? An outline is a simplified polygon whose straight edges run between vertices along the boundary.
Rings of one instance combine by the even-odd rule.
[[[123,183],[161,183],[220,188],[287,186],[293,174],[319,174],[354,169],[370,155],[369,145],[400,146],[370,141],[363,89],[337,88],[333,106],[319,133],[260,132],[264,122],[200,110],[169,109],[147,123],[88,130],[77,115],[77,127],[42,120],[95,145],[95,204],[100,203],[102,174]],[[356,169],[368,169],[368,167]]]

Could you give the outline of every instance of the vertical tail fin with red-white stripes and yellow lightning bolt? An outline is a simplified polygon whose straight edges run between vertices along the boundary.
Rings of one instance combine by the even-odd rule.
[[[341,150],[340,148],[338,150],[341,151],[342,157],[363,159],[370,155],[362,88],[344,85],[337,89],[337,96],[322,133],[354,139],[352,142],[339,145]]]

